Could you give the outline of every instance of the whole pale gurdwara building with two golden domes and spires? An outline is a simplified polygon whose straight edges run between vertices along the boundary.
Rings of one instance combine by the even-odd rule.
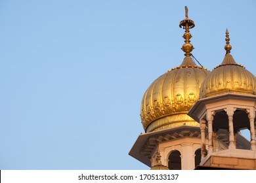
[[[139,135],[129,155],[152,170],[256,169],[256,78],[236,63],[226,30],[226,54],[213,71],[196,65],[188,18],[184,59],[142,97]],[[240,135],[249,129],[250,140]]]

